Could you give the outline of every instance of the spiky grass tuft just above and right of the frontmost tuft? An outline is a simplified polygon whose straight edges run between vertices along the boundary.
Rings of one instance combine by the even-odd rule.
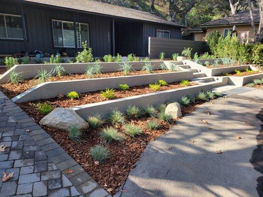
[[[108,143],[121,142],[124,137],[117,132],[113,127],[103,128],[100,132],[101,137],[103,137]]]

